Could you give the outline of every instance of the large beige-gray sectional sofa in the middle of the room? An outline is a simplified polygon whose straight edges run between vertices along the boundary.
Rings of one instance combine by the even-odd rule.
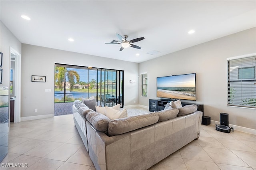
[[[184,113],[188,108],[172,109],[172,117],[177,110],[185,114],[172,119],[160,111],[110,120],[80,101],[72,107],[97,170],[146,170],[200,136],[202,112]]]

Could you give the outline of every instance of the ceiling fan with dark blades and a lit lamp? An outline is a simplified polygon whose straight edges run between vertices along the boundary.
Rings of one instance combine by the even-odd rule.
[[[137,49],[141,49],[141,47],[139,47],[138,45],[134,45],[132,43],[144,40],[144,37],[141,37],[141,38],[135,38],[133,40],[128,41],[128,40],[126,40],[126,38],[128,38],[127,35],[124,35],[124,37],[122,37],[119,34],[116,34],[116,36],[118,37],[118,39],[120,41],[113,40],[112,42],[110,42],[108,44],[121,44],[122,47],[120,48],[119,51],[122,51],[124,48],[127,48],[127,47],[134,47],[134,48],[137,48]]]

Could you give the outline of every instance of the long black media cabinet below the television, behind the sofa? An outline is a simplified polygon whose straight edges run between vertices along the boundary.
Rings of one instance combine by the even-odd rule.
[[[171,99],[169,101],[172,101]],[[164,107],[169,102],[168,100],[161,100],[161,99],[149,99],[149,111],[162,111],[164,110]],[[187,103],[187,102],[181,102],[182,106],[186,105],[197,105],[197,110],[203,112],[204,116],[204,105],[202,104],[196,104],[196,103]]]

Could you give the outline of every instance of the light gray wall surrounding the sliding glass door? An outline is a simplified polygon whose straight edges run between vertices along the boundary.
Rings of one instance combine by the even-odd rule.
[[[22,44],[21,117],[54,113],[54,63],[124,70],[124,106],[138,104],[138,63]],[[31,75],[46,76],[46,83],[31,82]]]

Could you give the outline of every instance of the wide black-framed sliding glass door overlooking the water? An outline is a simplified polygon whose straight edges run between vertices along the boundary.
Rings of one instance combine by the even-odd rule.
[[[124,71],[121,70],[55,64],[54,113],[72,114],[59,113],[63,110],[63,103],[72,105],[77,99],[92,96],[96,97],[99,105],[113,106],[120,103],[122,107],[123,77]]]

